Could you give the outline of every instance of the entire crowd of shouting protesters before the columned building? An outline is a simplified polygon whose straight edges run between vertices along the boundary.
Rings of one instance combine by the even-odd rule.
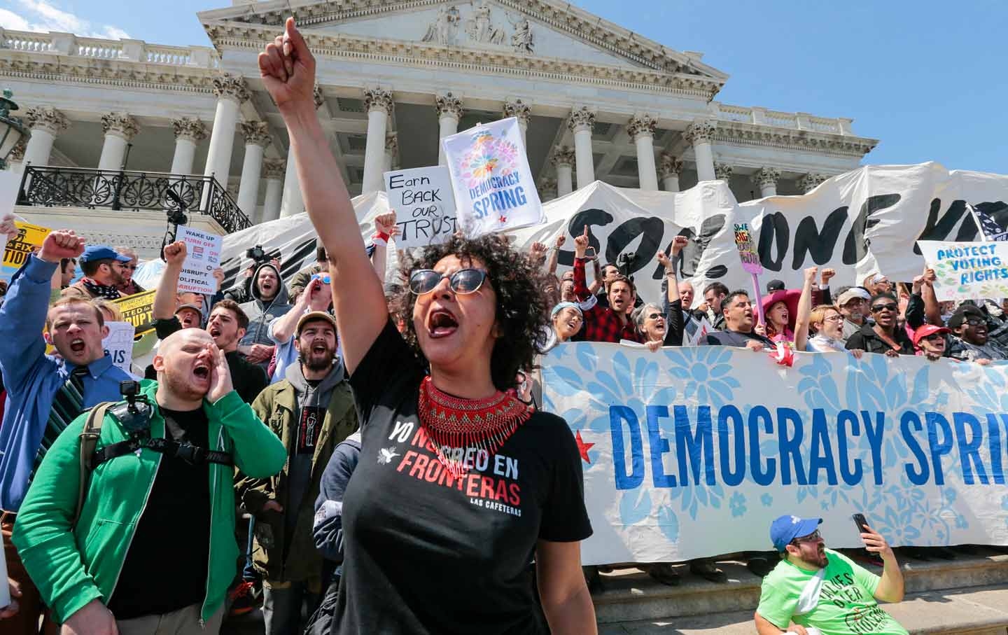
[[[102,340],[120,319],[111,300],[143,291],[135,252],[54,231],[4,289],[9,632],[38,633],[40,622],[65,633],[217,632],[257,602],[269,635],[594,632],[581,461],[562,420],[537,408],[538,356],[589,341],[1008,360],[1004,303],[939,302],[930,270],[834,290],[836,272],[810,267],[801,288],[771,281],[760,307],[747,290],[679,280],[683,236],[656,256],[660,297],[637,292],[632,273],[648,263],[601,263],[587,228],[560,277],[563,235],[529,253],[501,236],[456,236],[400,256],[386,283],[395,216],[378,217],[362,243],[313,116],[313,59],[291,22],[260,66],[319,234],[313,263],[284,281],[277,259],[257,261],[234,288],[180,294],[186,248],[166,245],[152,310],[160,343],[132,391],[137,378]],[[4,219],[0,233],[12,231]],[[362,447],[377,462],[359,463]],[[473,481],[497,452],[520,478],[516,467],[514,482],[499,471]],[[475,512],[474,492],[501,513]],[[873,596],[902,598],[884,538],[862,534],[884,561],[880,582],[826,550],[816,525],[781,517],[771,528],[780,558],[741,554],[768,576],[761,635],[788,629],[792,596],[815,568],[847,576],[869,609]],[[640,566],[679,583],[670,562]],[[689,570],[726,581],[710,558]],[[803,615],[796,632],[814,625]]]

